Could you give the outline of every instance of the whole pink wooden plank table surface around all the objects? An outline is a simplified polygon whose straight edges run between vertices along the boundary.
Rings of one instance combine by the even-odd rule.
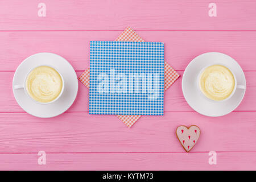
[[[46,16],[38,16],[38,4]],[[210,17],[209,3],[217,5]],[[0,169],[256,169],[256,1],[0,1]],[[40,12],[39,12],[40,13]],[[193,111],[181,78],[165,92],[164,115],[143,116],[127,128],[114,115],[88,114],[88,89],[79,82],[64,114],[42,119],[25,113],[12,92],[15,69],[26,57],[53,52],[80,75],[89,67],[89,41],[114,40],[131,26],[150,42],[165,43],[165,60],[181,77],[195,56],[223,52],[245,72],[241,105],[224,117]],[[179,125],[198,125],[199,142],[186,153]],[[46,165],[38,152],[46,152]],[[209,151],[217,164],[208,163]]]

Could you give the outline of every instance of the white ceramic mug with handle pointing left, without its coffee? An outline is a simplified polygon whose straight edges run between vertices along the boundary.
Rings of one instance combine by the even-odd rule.
[[[60,92],[59,96],[57,96],[54,100],[52,100],[52,101],[50,101],[50,102],[39,102],[39,101],[34,100],[34,98],[32,98],[32,97],[30,96],[30,94],[28,94],[27,89],[26,89],[26,80],[27,80],[27,77],[28,77],[28,75],[30,74],[30,72],[32,72],[35,68],[43,67],[43,66],[46,66],[46,67],[50,67],[50,68],[55,69],[55,71],[56,71],[57,73],[59,73],[59,75],[60,75],[60,77],[61,77],[61,81],[62,81],[62,88],[61,88],[61,92]],[[60,74],[60,72],[59,72],[56,68],[52,67],[51,65],[39,65],[39,66],[37,66],[37,67],[32,68],[32,69],[27,73],[27,76],[25,77],[25,79],[24,79],[24,81],[23,81],[23,84],[14,85],[13,88],[14,88],[14,89],[24,89],[24,92],[26,93],[26,95],[27,95],[28,97],[30,97],[33,101],[35,101],[36,103],[38,103],[38,104],[51,104],[52,102],[57,101],[57,100],[60,98],[60,96],[63,94],[64,85],[65,85],[65,84],[64,84],[63,76]]]

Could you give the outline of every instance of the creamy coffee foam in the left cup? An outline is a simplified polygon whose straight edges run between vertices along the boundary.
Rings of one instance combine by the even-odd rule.
[[[33,69],[26,79],[27,93],[38,102],[51,102],[61,93],[63,82],[60,74],[48,66]]]

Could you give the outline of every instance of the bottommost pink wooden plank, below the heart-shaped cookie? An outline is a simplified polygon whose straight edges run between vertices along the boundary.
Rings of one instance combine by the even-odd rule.
[[[37,154],[0,154],[1,170],[255,170],[256,152],[217,152],[209,165],[203,153],[46,154],[46,165]]]

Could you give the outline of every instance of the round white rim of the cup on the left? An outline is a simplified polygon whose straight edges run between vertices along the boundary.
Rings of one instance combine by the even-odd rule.
[[[35,68],[43,67],[43,66],[46,66],[46,67],[50,67],[50,68],[55,69],[55,71],[59,73],[59,75],[60,75],[60,77],[61,77],[61,80],[62,80],[62,88],[61,88],[61,92],[60,92],[59,96],[57,96],[54,100],[52,100],[52,101],[50,101],[50,102],[39,102],[39,101],[34,100],[34,98],[32,98],[32,97],[30,96],[30,94],[28,94],[27,88],[26,88],[26,81],[27,81],[28,75],[29,75]],[[24,85],[23,87],[24,87],[25,93],[27,94],[28,97],[31,98],[32,101],[36,102],[37,104],[43,104],[43,105],[45,105],[45,104],[51,104],[52,102],[55,102],[55,101],[57,101],[57,100],[60,98],[60,96],[63,94],[64,85],[65,85],[65,84],[64,84],[64,78],[63,78],[63,76],[61,75],[61,73],[59,72],[58,69],[56,69],[55,67],[53,67],[52,65],[49,65],[49,64],[41,64],[41,65],[38,65],[38,66],[36,66],[36,67],[30,69],[30,71],[27,72],[27,75],[26,75],[26,77],[25,77],[25,79],[24,79],[23,85]]]

